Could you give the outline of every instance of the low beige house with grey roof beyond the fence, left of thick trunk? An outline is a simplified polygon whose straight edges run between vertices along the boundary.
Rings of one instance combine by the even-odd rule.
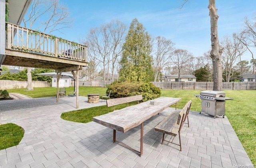
[[[162,82],[196,82],[196,76],[192,74],[180,75],[180,81],[178,81],[178,75],[165,75],[162,76]]]

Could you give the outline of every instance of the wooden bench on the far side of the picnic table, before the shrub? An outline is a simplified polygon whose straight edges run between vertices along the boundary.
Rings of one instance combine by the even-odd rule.
[[[126,98],[108,99],[107,100],[107,107],[114,106],[114,110],[115,110],[115,105],[127,103],[127,105],[129,106],[129,104],[128,104],[129,102],[138,101],[138,104],[139,104],[140,100],[142,100],[142,95],[141,94],[136,95],[136,96],[129,96],[129,97],[126,97]]]

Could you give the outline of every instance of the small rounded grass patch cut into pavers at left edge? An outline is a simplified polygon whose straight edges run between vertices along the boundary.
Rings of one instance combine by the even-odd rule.
[[[0,125],[0,150],[18,145],[23,135],[22,127],[16,124]]]

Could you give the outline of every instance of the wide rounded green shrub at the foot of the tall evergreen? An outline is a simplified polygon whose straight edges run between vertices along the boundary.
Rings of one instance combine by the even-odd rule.
[[[142,101],[148,101],[159,98],[161,95],[160,88],[152,83],[134,83],[134,82],[112,82],[107,86],[106,94],[110,94],[110,98],[124,98],[142,94]]]

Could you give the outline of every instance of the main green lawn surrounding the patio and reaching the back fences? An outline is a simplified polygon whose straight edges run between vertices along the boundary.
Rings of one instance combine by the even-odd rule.
[[[66,88],[67,92],[71,92],[74,88]],[[194,97],[194,94],[200,94],[200,90],[161,90],[161,96],[182,98],[178,102],[178,108],[182,108],[188,100],[192,100],[191,110],[201,110],[201,100]],[[18,92],[30,97],[47,97],[55,96],[56,88],[35,88],[34,91],[26,91],[26,89],[13,89],[8,92]],[[226,97],[234,98],[234,100],[226,101],[225,115],[228,117],[236,135],[240,139],[243,147],[249,155],[252,163],[256,164],[256,90],[224,90]],[[90,93],[99,93],[100,96],[106,94],[106,88],[98,87],[79,87],[79,95],[87,96]],[[126,105],[118,105],[116,109],[126,107]],[[105,111],[105,112],[102,112]],[[102,115],[113,111],[112,107],[107,108],[106,105],[100,107],[92,107],[90,109],[81,109],[62,113],[63,119],[75,122],[87,123],[92,121],[92,117]]]

